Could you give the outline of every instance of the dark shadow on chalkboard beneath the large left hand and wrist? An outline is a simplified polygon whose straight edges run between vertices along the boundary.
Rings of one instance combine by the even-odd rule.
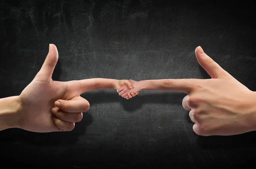
[[[92,123],[90,113],[83,113],[83,120],[76,123],[76,127],[70,132],[28,132],[20,129],[8,129],[0,132],[0,144],[26,143],[36,146],[56,146],[75,144],[79,136],[85,135],[86,128]]]

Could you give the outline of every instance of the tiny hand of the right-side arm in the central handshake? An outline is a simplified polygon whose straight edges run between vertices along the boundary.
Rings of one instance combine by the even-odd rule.
[[[140,91],[140,83],[136,82],[134,80],[129,80],[131,83],[131,86],[133,88],[128,88],[127,86],[122,86],[117,89],[117,92],[119,92],[119,96],[122,96],[123,98],[130,99],[132,97],[135,97],[139,94]]]

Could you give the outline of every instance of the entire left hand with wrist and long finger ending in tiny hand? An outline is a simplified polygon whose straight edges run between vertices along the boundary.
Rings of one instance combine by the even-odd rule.
[[[49,53],[32,82],[20,93],[0,99],[0,130],[20,128],[31,132],[71,131],[83,118],[89,102],[80,95],[100,89],[131,88],[128,80],[84,79],[68,82],[52,80],[58,50],[49,45]]]

